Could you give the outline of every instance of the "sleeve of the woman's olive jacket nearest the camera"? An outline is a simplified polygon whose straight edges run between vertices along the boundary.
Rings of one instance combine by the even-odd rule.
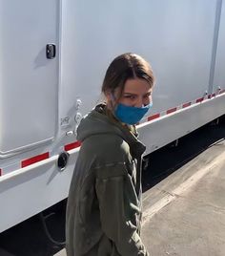
[[[126,170],[114,168],[107,168],[105,173],[111,175],[97,178],[95,184],[102,229],[122,256],[148,256],[137,231],[140,209],[133,183]]]

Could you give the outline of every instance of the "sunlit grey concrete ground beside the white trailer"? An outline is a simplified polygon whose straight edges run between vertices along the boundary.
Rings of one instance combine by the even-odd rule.
[[[150,255],[224,256],[224,195],[221,139],[144,193],[142,240]]]

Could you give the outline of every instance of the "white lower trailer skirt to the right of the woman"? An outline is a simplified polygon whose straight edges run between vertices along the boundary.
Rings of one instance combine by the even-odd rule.
[[[196,103],[187,109],[158,118],[152,123],[138,126],[140,140],[144,141],[146,154],[181,138],[225,113],[225,95]],[[147,141],[147,142],[146,142]]]

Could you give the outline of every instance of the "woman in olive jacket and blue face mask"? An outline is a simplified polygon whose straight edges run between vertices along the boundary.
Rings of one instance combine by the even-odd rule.
[[[116,57],[102,86],[106,103],[84,117],[68,198],[68,256],[149,255],[140,239],[141,156],[135,124],[152,106],[153,71],[142,57]]]

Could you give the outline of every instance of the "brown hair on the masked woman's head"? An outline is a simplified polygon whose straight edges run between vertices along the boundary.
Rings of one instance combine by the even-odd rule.
[[[108,92],[113,94],[115,89],[118,88],[121,96],[126,81],[133,78],[145,79],[150,88],[153,87],[154,76],[150,64],[135,53],[121,54],[113,59],[107,69],[102,85],[102,93],[104,95]]]

